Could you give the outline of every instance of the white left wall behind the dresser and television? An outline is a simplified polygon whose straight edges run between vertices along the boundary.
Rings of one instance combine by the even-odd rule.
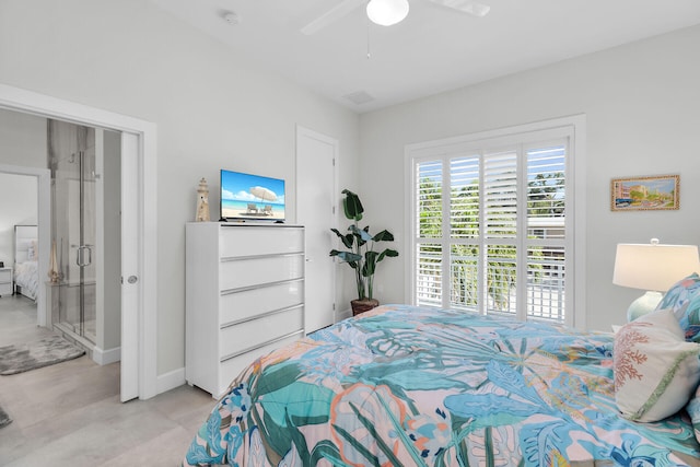
[[[354,113],[150,2],[3,0],[0,44],[0,82],[158,125],[160,375],[184,366],[185,223],[199,178],[209,182],[212,218],[221,167],[285,178],[293,200],[300,124],[339,140],[340,185],[357,182]]]

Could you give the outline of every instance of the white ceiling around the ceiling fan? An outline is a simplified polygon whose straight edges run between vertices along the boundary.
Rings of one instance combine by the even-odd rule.
[[[481,19],[410,0],[397,25],[369,24],[360,7],[307,36],[340,0],[151,1],[358,113],[700,24],[700,0],[480,0]],[[358,92],[373,101],[345,97]]]

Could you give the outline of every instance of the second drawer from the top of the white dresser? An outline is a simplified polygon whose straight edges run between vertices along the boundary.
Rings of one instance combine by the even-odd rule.
[[[303,276],[303,254],[222,260],[219,266],[219,287],[221,291],[230,291],[300,279]]]

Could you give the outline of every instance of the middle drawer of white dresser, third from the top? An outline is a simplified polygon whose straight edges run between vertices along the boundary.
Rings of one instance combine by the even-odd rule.
[[[301,279],[223,294],[219,299],[219,324],[248,319],[301,303],[304,303],[304,281]]]

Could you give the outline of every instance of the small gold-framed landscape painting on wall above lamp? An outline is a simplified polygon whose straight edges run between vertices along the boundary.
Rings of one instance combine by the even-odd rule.
[[[612,178],[610,183],[610,210],[656,211],[678,209],[680,207],[679,187],[679,175]]]

